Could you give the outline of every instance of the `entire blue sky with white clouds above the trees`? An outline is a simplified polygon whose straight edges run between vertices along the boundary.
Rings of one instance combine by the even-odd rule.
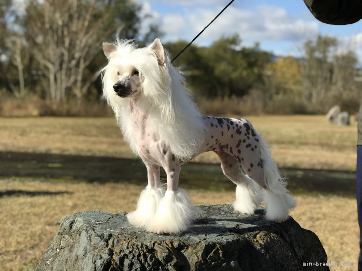
[[[190,41],[229,0],[137,0],[143,12],[152,15],[144,22],[157,23],[165,33],[163,42]],[[259,42],[276,55],[298,56],[307,39],[318,34],[337,37],[339,50],[353,49],[362,62],[362,21],[337,26],[319,22],[302,0],[235,0],[200,36],[196,43],[207,46],[221,36],[238,33],[245,46]]]

